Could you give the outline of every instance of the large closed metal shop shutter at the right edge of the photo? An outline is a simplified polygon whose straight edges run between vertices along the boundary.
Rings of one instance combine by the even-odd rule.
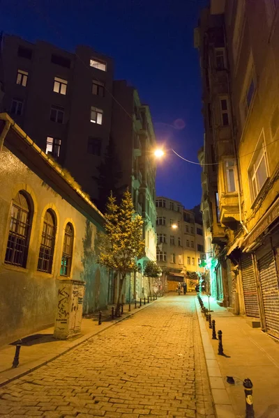
[[[277,248],[276,251],[278,251]],[[259,258],[259,277],[267,332],[279,338],[279,289],[273,251]]]

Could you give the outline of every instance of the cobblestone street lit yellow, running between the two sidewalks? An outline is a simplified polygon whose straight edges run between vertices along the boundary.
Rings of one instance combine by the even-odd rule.
[[[0,417],[213,418],[195,297],[163,297],[0,388]]]

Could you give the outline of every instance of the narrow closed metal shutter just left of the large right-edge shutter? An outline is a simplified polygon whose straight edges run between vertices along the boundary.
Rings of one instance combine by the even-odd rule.
[[[243,254],[243,257],[241,258],[241,276],[246,315],[259,318],[257,286],[255,272],[252,264],[252,257],[250,254]]]

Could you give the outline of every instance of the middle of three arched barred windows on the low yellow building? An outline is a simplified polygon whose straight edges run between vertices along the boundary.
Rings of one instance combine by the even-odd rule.
[[[54,212],[47,209],[43,223],[42,240],[40,242],[40,253],[37,268],[37,270],[40,270],[41,272],[52,272],[55,233],[56,222]]]

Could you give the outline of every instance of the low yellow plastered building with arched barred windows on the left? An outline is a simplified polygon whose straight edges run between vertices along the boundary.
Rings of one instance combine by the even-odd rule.
[[[107,307],[97,263],[104,217],[58,164],[0,114],[0,343],[54,323],[59,281],[85,284],[83,313]]]

